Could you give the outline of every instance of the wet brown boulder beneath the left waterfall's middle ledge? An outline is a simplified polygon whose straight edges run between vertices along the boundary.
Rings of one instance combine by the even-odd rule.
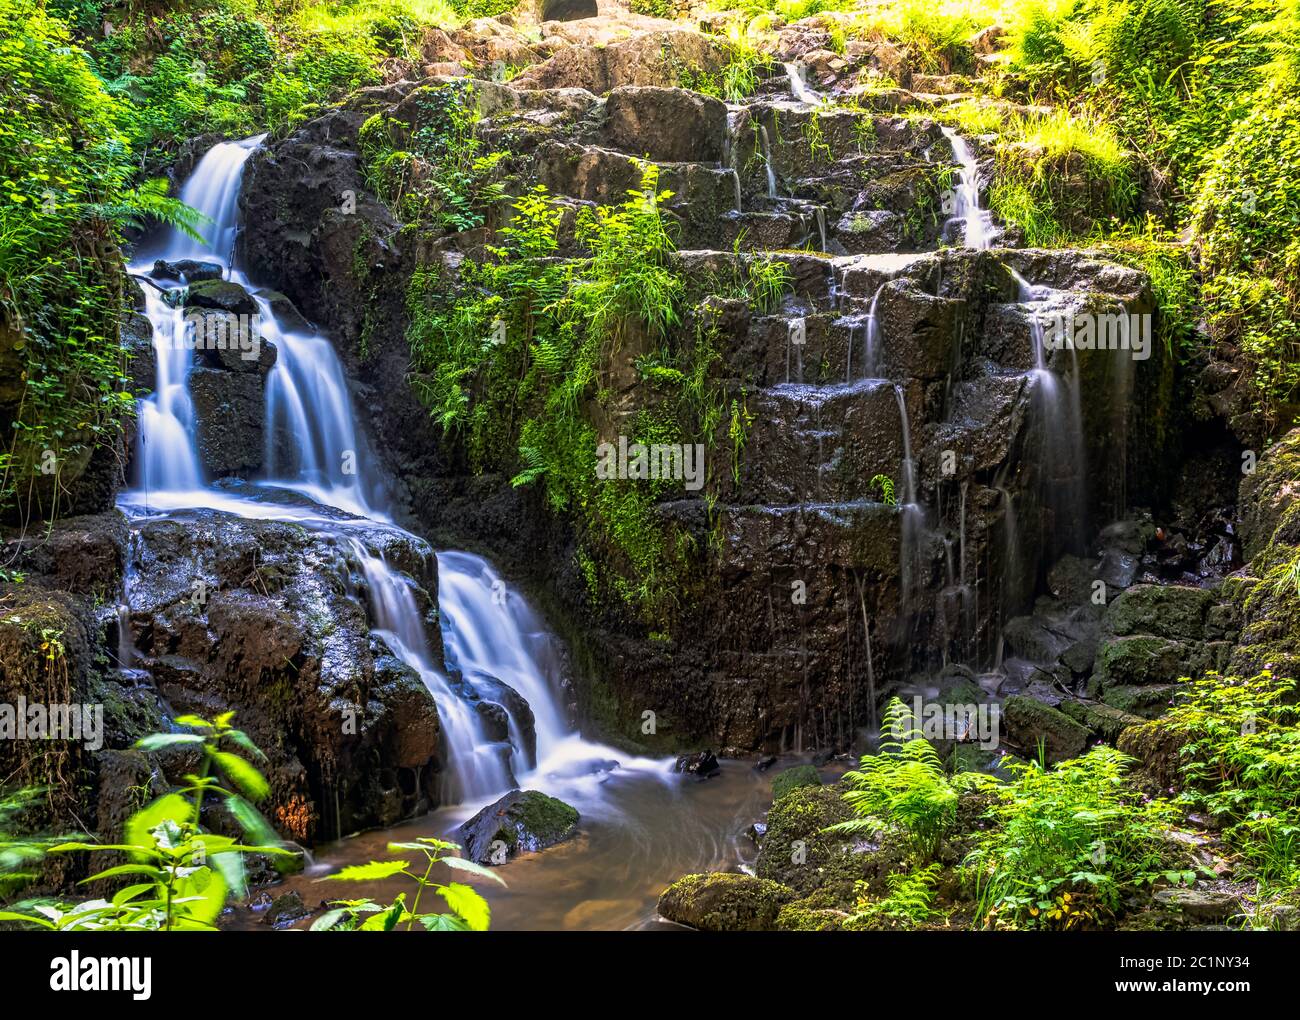
[[[437,590],[436,560],[428,547],[382,526],[355,534],[411,572],[433,608],[426,593]],[[198,511],[139,522],[129,537],[127,522],[113,512],[65,521],[49,542],[16,548],[16,561],[30,572],[16,591],[36,599],[23,620],[35,625],[48,616],[42,628],[64,635],[75,696],[61,700],[104,708],[103,746],[78,759],[87,781],[109,789],[110,781],[94,777],[125,769],[178,782],[192,763],[155,760],[131,745],[168,729],[174,715],[233,711],[268,756],[259,767],[272,791],[261,808],[287,838],[335,838],[437,804],[441,733],[433,696],[370,637],[364,581],[329,534]],[[133,651],[124,670],[114,661],[121,624],[112,607],[127,569],[125,637]],[[18,673],[9,667],[20,668],[16,656],[31,626],[0,630],[0,678],[13,680]],[[441,660],[434,631],[430,643]],[[104,803],[103,817],[84,822],[112,838],[130,806]]]

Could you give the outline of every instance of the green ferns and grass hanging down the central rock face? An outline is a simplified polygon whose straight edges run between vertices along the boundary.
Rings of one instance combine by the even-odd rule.
[[[523,196],[490,260],[465,264],[459,295],[448,298],[433,270],[415,274],[408,342],[416,394],[443,429],[463,433],[473,465],[514,468],[516,485],[540,485],[554,511],[575,513],[615,568],[610,586],[663,621],[689,552],[685,534],[654,512],[673,482],[598,479],[589,417],[603,399],[602,369],[634,334],[663,347],[640,364],[672,392],[633,417],[629,443],[680,443],[720,418],[707,381],[718,357],[710,330],[681,350],[670,343],[685,286],[660,209],[670,194],[656,185],[646,165],[627,201],[585,208],[576,221],[585,255],[568,261],[556,257],[560,210],[545,188]]]

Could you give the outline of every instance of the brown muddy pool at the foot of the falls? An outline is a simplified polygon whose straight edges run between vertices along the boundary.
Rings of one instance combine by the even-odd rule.
[[[750,871],[758,847],[746,834],[762,821],[772,795],[772,777],[801,759],[783,758],[766,772],[753,760],[720,760],[722,772],[698,781],[671,772],[671,761],[629,763],[564,789],[542,786],[580,812],[577,835],[566,843],[516,858],[495,872],[506,887],[473,880],[491,904],[491,929],[502,930],[636,930],[679,929],[659,919],[655,904],[673,880],[693,872]],[[833,781],[842,767],[822,769]],[[443,808],[391,829],[361,833],[321,846],[302,874],[270,886],[278,897],[298,891],[309,908],[326,899],[370,897],[390,902],[410,891],[402,880],[332,882],[324,876],[348,864],[393,860],[408,854],[387,850],[390,842],[420,835],[455,839],[456,825],[478,806]],[[456,881],[467,881],[463,874]],[[408,897],[410,898],[410,897]],[[268,930],[263,911],[238,907],[228,929]],[[309,928],[311,917],[292,924]],[[680,930],[680,929],[679,929]]]

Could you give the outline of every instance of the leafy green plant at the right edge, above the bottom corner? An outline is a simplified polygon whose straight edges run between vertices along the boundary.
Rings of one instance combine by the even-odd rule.
[[[1300,707],[1269,672],[1183,682],[1160,721],[1186,737],[1179,803],[1208,812],[1270,884],[1300,881]]]

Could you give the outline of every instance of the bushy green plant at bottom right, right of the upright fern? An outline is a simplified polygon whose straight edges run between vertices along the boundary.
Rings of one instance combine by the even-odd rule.
[[[996,828],[966,859],[985,926],[1082,928],[1108,920],[1138,884],[1190,882],[1166,832],[1176,810],[1127,781],[1131,759],[1098,745],[1054,768],[1009,761]]]

